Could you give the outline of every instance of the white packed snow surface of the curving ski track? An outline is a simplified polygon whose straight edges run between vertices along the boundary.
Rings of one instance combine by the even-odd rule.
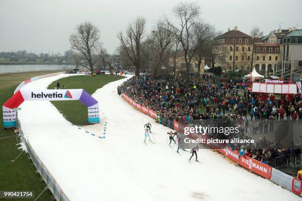
[[[24,87],[47,88],[67,76],[43,78]],[[81,129],[49,101],[21,105],[18,115],[25,138],[71,201],[301,201],[208,149],[199,149],[202,164],[194,160],[189,164],[189,152],[180,151],[181,156],[166,144],[168,127],[117,95],[116,87],[124,81],[93,94],[99,101],[101,123]],[[97,138],[103,136],[105,121],[106,138]],[[156,144],[143,142],[148,121],[157,133]]]

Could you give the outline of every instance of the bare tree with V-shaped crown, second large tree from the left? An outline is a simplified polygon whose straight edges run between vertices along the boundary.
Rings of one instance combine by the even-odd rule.
[[[123,46],[127,56],[135,66],[135,75],[140,75],[141,68],[141,44],[145,33],[146,20],[138,17],[128,25],[125,36],[119,32],[117,37]]]

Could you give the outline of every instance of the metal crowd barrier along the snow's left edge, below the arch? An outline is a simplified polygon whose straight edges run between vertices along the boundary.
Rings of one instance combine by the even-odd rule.
[[[68,197],[64,194],[62,189],[60,188],[59,184],[56,182],[55,178],[51,175],[51,173],[47,170],[47,168],[44,166],[42,161],[39,159],[38,155],[36,154],[29,140],[26,140],[24,138],[19,119],[17,119],[17,122],[18,122],[18,131],[19,134],[21,135],[21,140],[26,146],[28,154],[30,155],[33,164],[35,165],[37,172],[41,175],[41,179],[44,180],[46,187],[53,194],[53,198],[56,201],[70,201]]]

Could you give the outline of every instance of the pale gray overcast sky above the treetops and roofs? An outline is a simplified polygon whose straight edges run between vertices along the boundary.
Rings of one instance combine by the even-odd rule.
[[[189,1],[189,0],[183,0]],[[136,16],[150,30],[160,16],[172,16],[180,0],[0,0],[0,52],[27,50],[54,53],[70,49],[76,25],[90,21],[101,32],[109,53],[119,45],[116,34]],[[302,0],[197,0],[202,18],[217,30],[237,26],[249,34],[258,26],[266,35],[279,28],[302,29]],[[174,21],[175,22],[175,21]]]

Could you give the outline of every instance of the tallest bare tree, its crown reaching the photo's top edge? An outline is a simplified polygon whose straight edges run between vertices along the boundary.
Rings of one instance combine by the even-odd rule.
[[[180,25],[175,26],[168,19],[166,19],[166,22],[173,28],[172,33],[182,46],[186,62],[186,84],[189,85],[190,62],[198,48],[198,45],[195,44],[196,38],[192,30],[195,24],[200,20],[200,6],[194,2],[182,2],[173,8],[173,13],[180,21]]]

